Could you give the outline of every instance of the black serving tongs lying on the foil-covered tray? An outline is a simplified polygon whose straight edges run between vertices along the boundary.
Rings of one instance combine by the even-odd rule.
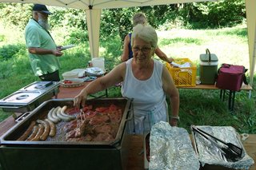
[[[195,132],[198,132],[198,134],[200,134],[204,138],[206,138],[206,140],[210,140],[211,143],[214,143],[222,151],[227,160],[237,161],[242,158],[242,148],[239,148],[232,143],[226,143],[225,141],[220,140],[213,135],[210,135],[208,132],[205,132],[200,128],[196,128],[194,125],[192,126],[192,129]],[[211,140],[208,136],[210,136],[214,140]],[[220,146],[215,140],[221,142],[225,146]]]

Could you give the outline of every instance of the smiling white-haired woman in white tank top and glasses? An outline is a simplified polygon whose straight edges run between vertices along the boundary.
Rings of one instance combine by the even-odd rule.
[[[106,76],[92,81],[74,98],[74,106],[85,105],[86,97],[122,82],[122,96],[133,98],[134,121],[130,132],[143,134],[158,121],[168,121],[166,95],[170,96],[170,125],[178,121],[179,94],[170,73],[160,61],[154,60],[158,36],[151,26],[138,24],[131,37],[134,57],[123,62]]]

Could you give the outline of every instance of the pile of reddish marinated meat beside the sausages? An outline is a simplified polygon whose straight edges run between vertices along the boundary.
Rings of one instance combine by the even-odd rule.
[[[122,119],[122,109],[118,109],[116,105],[96,109],[93,109],[92,105],[86,105],[82,111],[83,113],[80,114],[79,110],[77,112],[70,110],[77,116],[63,126],[66,141],[114,140]]]

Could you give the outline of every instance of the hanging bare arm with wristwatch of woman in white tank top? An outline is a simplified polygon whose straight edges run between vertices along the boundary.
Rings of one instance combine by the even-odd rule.
[[[165,66],[162,67],[162,88],[170,96],[171,118],[170,125],[177,126],[179,110],[179,93],[174,81]]]

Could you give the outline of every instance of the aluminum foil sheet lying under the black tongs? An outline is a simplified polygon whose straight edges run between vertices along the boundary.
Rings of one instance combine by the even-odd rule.
[[[205,132],[210,133],[213,136],[224,140],[226,143],[241,147],[243,150],[242,157],[236,161],[227,160],[225,156],[222,156],[221,150],[212,144],[209,140],[206,140],[198,132],[192,132],[194,135],[194,144],[196,145],[199,160],[204,166],[205,164],[218,165],[227,168],[234,169],[249,169],[254,160],[246,153],[245,148],[242,146],[242,142],[238,133],[233,127],[230,126],[195,126],[202,129]]]

